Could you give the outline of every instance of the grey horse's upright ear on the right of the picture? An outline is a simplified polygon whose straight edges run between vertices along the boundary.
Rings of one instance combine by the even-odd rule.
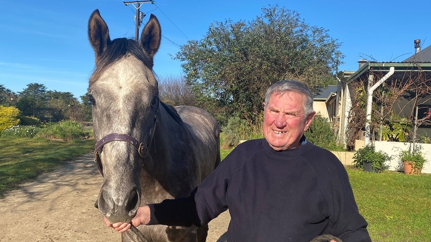
[[[154,57],[158,47],[160,46],[160,39],[160,23],[155,15],[151,14],[140,35],[140,44],[151,59]]]

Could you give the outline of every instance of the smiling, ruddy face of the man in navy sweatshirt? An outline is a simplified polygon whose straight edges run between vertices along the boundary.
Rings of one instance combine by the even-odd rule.
[[[304,117],[305,96],[297,92],[274,93],[263,103],[263,136],[274,150],[300,146],[300,139],[308,129],[315,112]]]

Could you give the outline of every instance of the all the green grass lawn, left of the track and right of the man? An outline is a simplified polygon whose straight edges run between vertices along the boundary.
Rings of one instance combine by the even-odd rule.
[[[92,139],[61,142],[0,137],[0,197],[93,148]],[[221,159],[230,151],[221,149]],[[431,175],[346,170],[373,242],[431,241]]]

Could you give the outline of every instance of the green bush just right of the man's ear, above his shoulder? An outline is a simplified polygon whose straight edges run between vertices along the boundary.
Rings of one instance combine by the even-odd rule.
[[[317,114],[311,122],[310,127],[305,131],[307,141],[321,148],[331,151],[343,151],[342,146],[337,145],[335,135],[327,118]]]

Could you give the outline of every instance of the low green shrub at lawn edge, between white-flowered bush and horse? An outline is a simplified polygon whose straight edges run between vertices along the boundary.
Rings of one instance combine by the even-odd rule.
[[[71,140],[82,138],[87,134],[78,122],[60,121],[49,123],[37,133],[37,136],[48,139]]]

